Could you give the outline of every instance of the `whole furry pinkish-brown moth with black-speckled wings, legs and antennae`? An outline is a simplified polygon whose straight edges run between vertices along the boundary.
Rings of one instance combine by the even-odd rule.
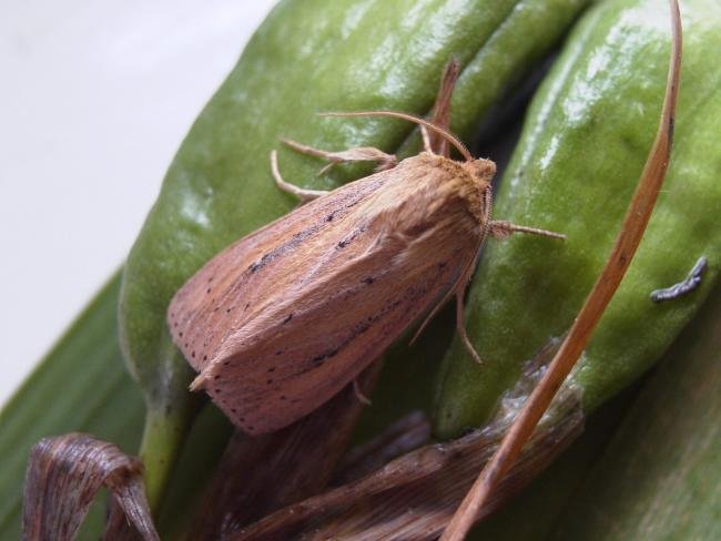
[[[328,160],[377,161],[377,173],[332,192],[304,191],[271,166],[280,188],[307,204],[211,259],[169,308],[174,343],[204,389],[250,435],[283,428],[326,402],[422,315],[456,296],[457,326],[471,355],[463,297],[487,235],[562,235],[491,221],[496,165],[474,160],[448,131],[458,65],[441,78],[424,152],[397,163],[377,149],[325,152]],[[448,143],[465,161],[448,157]],[[425,326],[425,324],[424,324]],[[423,326],[422,326],[423,328]]]

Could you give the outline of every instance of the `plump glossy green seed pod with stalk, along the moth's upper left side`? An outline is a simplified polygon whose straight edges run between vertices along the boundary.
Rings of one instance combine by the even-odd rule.
[[[338,110],[426,114],[449,58],[465,70],[454,127],[467,135],[505,89],[554,44],[583,0],[296,0],[268,16],[183,142],[130,254],[121,298],[123,351],[149,404],[142,448],[158,507],[194,411],[191,370],[171,344],[165,309],[210,257],[287,212],[268,153],[281,136],[341,150],[394,151],[413,126],[393,120],[322,119]],[[285,177],[331,188],[369,167],[337,167],[280,150]]]

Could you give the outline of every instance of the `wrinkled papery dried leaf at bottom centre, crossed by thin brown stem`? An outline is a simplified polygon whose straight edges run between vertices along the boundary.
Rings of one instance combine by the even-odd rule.
[[[567,388],[557,404],[554,417],[535,433],[478,519],[517,493],[581,433],[583,415],[576,390]],[[486,429],[412,451],[364,479],[282,509],[227,539],[436,539],[497,449],[509,417],[499,412],[499,421]]]

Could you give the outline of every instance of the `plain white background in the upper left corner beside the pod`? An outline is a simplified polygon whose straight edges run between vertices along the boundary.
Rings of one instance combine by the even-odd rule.
[[[0,8],[0,406],[122,263],[274,0]]]

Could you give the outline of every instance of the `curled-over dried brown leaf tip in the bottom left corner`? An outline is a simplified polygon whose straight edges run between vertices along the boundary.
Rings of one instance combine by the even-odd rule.
[[[142,469],[139,459],[84,433],[40,440],[28,461],[23,539],[73,539],[93,498],[105,486],[141,539],[159,540],[145,499]],[[106,532],[105,539],[118,538]]]

